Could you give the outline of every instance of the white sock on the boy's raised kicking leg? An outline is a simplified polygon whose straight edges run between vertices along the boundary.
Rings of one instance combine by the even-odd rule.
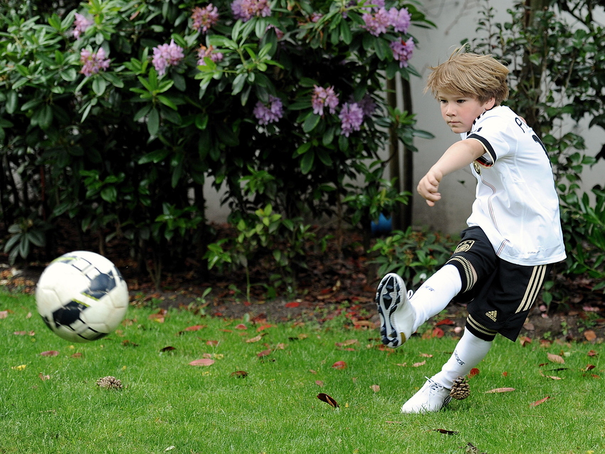
[[[444,310],[461,289],[460,272],[454,265],[445,265],[428,278],[410,299],[416,312],[412,332],[416,332],[426,320]]]

